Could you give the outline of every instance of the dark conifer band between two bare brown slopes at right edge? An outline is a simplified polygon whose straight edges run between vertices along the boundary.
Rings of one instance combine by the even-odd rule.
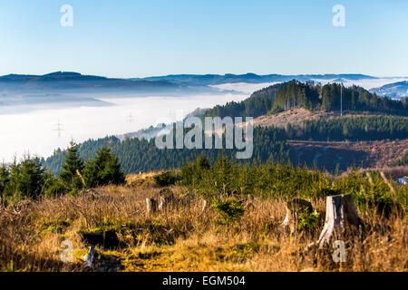
[[[302,125],[287,124],[291,140],[395,140],[408,138],[408,118],[359,116],[306,120]]]

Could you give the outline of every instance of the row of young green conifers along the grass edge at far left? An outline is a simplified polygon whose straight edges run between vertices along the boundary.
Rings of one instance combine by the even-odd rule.
[[[94,159],[84,163],[79,157],[78,146],[71,143],[58,176],[36,157],[25,156],[20,162],[15,160],[10,165],[0,165],[0,201],[75,194],[80,189],[124,182],[124,174],[111,149],[102,147]]]

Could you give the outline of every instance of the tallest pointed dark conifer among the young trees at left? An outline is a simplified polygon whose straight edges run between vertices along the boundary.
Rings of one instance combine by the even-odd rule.
[[[65,161],[60,173],[60,180],[63,182],[66,189],[82,189],[83,182],[78,175],[83,174],[83,160],[81,160],[78,153],[78,145],[71,141],[70,148],[67,149]]]

